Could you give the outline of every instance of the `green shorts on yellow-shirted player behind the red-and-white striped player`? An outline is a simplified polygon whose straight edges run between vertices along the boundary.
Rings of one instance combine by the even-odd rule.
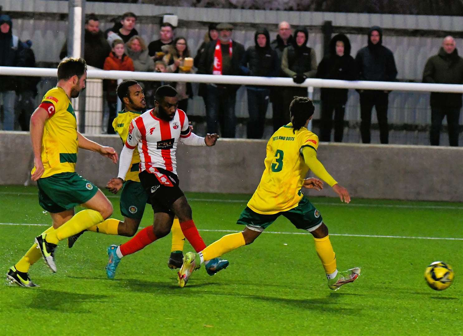
[[[148,194],[140,182],[131,180],[124,182],[119,200],[120,213],[124,217],[141,220],[147,201]]]

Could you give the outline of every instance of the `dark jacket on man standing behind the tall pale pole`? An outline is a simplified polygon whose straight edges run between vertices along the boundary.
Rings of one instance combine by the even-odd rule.
[[[106,41],[105,34],[102,31],[94,34],[87,29],[84,35],[84,59],[89,66],[103,68],[106,57],[111,52],[111,47]],[[68,43],[64,43],[59,54],[59,58],[63,59],[68,55]]]

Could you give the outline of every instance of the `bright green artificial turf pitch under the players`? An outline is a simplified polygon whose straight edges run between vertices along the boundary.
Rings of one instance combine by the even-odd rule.
[[[187,196],[206,244],[225,230],[242,229],[236,220],[249,195]],[[38,205],[35,187],[0,186],[0,197],[0,271],[5,274],[50,218]],[[110,200],[113,217],[122,219],[119,199]],[[31,267],[39,288],[0,285],[2,333],[462,335],[461,203],[310,200],[330,230],[338,269],[362,268],[357,281],[337,292],[326,286],[312,236],[294,234],[302,231],[284,218],[266,230],[280,233],[263,233],[254,244],[226,254],[230,266],[213,277],[202,267],[184,288],[177,287],[176,273],[167,267],[170,235],[125,257],[115,280],[108,280],[106,248],[128,238],[86,232],[72,249],[59,245],[56,274],[42,260]],[[140,227],[152,218],[147,207]],[[184,250],[192,248],[186,243]],[[455,270],[454,283],[442,292],[427,287],[423,278],[425,267],[436,260]]]

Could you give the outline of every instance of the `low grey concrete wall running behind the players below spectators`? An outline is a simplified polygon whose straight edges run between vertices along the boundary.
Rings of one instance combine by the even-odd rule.
[[[90,139],[120,151],[115,135]],[[179,145],[178,175],[185,191],[252,193],[265,158],[264,140],[220,139],[215,147]],[[353,197],[463,202],[463,148],[321,143],[320,161]],[[32,154],[27,132],[0,131],[0,185],[23,184]],[[76,171],[104,187],[118,166],[81,150]],[[281,186],[282,190],[285,186]],[[334,196],[331,188],[316,195]]]

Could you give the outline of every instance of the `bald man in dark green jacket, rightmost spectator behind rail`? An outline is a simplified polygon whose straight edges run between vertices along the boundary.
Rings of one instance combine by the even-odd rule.
[[[445,37],[438,54],[428,59],[423,71],[423,82],[463,84],[463,58],[458,56],[453,37]],[[461,93],[431,92],[431,145],[439,146],[442,120],[447,116],[449,145],[458,146],[461,107]]]

